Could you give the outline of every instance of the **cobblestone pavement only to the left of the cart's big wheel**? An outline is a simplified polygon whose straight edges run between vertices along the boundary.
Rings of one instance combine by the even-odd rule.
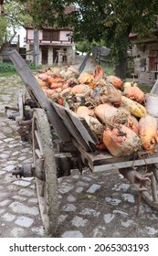
[[[5,105],[16,106],[19,77],[0,78],[0,237],[42,237],[34,178],[16,179],[16,165],[32,163],[30,144],[16,133],[16,122],[5,116]]]

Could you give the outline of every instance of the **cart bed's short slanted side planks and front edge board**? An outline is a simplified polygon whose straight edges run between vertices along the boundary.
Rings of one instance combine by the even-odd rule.
[[[108,151],[99,152],[95,150],[95,145],[99,144],[99,141],[90,130],[88,123],[75,112],[53,101],[51,101],[51,104],[68,128],[72,143],[78,148],[80,154],[88,160],[93,172],[158,163],[157,152],[152,155],[141,152],[140,156],[114,157]],[[158,151],[158,148],[156,148],[156,151]]]

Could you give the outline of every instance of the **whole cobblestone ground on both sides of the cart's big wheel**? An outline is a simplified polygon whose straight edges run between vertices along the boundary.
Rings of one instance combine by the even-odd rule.
[[[17,164],[32,163],[31,145],[5,117],[5,105],[16,105],[23,91],[18,76],[0,78],[0,237],[46,237],[34,178],[16,179]],[[143,201],[136,217],[137,193],[119,172],[58,178],[58,237],[158,237],[158,212]]]

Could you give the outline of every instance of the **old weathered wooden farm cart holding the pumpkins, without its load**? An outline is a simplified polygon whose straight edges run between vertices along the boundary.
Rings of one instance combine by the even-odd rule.
[[[36,176],[37,198],[46,232],[55,235],[58,228],[58,176],[68,176],[74,168],[80,172],[83,167],[89,167],[92,172],[119,169],[137,188],[138,195],[152,208],[158,208],[158,153],[127,159],[113,157],[108,152],[100,154],[95,150],[98,139],[85,120],[45,96],[16,50],[10,53],[10,59],[29,94],[27,100],[19,95],[15,119],[22,138],[32,131],[34,159],[32,165],[19,166],[14,175]],[[154,92],[157,84],[153,86]],[[146,166],[143,175],[137,170],[142,165]]]

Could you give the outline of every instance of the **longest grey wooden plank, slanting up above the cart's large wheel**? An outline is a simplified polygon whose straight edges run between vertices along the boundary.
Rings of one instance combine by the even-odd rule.
[[[21,79],[24,81],[26,90],[29,92],[30,97],[37,102],[37,105],[47,112],[47,118],[53,125],[58,137],[62,142],[70,142],[71,136],[67,127],[58,117],[57,112],[53,108],[51,101],[47,98],[44,91],[37,83],[35,76],[32,74],[26,61],[21,58],[16,50],[10,52],[10,59],[14,63],[16,71],[19,73]]]

